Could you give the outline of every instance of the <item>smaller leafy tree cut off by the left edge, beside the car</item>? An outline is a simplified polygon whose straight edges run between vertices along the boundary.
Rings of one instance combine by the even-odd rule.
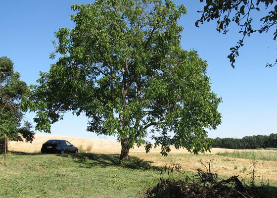
[[[0,57],[0,137],[7,135],[9,140],[32,142],[34,133],[31,124],[23,121],[20,109],[21,99],[30,93],[25,82],[19,80],[20,74],[13,71],[13,62],[6,56]],[[4,145],[0,140],[0,152]]]

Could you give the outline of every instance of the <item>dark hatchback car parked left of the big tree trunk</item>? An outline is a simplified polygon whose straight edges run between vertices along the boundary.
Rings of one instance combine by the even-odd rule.
[[[78,153],[78,148],[71,145],[66,140],[48,140],[42,146],[42,153]]]

